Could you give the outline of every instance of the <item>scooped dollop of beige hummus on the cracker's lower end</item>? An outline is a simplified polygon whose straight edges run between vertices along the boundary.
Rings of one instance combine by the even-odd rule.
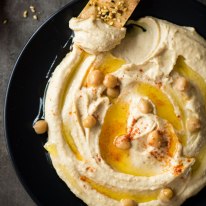
[[[74,43],[86,52],[97,54],[114,49],[125,37],[125,28],[116,28],[101,20],[72,18],[69,27],[74,31]]]

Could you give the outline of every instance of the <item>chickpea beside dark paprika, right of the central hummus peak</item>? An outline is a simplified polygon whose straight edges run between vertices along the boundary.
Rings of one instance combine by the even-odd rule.
[[[162,145],[162,135],[160,131],[154,130],[147,137],[148,145],[156,148],[160,148]]]

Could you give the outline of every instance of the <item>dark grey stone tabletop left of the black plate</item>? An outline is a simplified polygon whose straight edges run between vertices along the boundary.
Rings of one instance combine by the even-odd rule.
[[[35,203],[23,189],[11,165],[3,131],[3,105],[8,79],[14,63],[35,30],[52,13],[70,0],[0,0],[0,205],[33,206]],[[34,5],[39,20],[33,20],[29,6]],[[27,19],[22,17],[29,11]],[[8,19],[7,24],[2,22]]]

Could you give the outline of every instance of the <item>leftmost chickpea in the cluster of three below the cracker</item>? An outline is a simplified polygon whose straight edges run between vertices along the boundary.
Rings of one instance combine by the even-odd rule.
[[[89,86],[99,86],[102,84],[104,80],[104,74],[103,72],[101,72],[100,70],[94,70],[92,72],[90,72],[87,82],[89,84]]]

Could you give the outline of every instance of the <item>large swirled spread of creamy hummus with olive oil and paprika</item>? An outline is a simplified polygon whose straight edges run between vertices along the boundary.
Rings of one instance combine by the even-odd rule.
[[[94,19],[70,27],[73,51],[55,69],[45,105],[56,172],[89,206],[181,205],[206,184],[205,40],[153,17],[129,22],[126,36]],[[118,78],[117,98],[88,84],[94,70]]]

